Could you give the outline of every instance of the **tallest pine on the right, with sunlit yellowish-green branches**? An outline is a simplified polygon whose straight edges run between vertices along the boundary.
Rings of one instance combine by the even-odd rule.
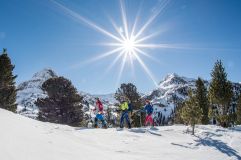
[[[227,127],[229,122],[228,110],[232,100],[232,84],[227,80],[227,73],[222,61],[217,61],[211,73],[212,81],[209,88],[209,100],[221,111],[218,121],[223,127]]]

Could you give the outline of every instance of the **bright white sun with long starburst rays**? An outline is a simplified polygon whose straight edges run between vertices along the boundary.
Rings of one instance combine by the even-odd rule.
[[[50,0],[50,1],[56,7],[58,7],[58,9],[60,9],[65,15],[73,18],[75,21],[80,22],[81,24],[84,23],[85,25],[91,27],[92,29],[112,39],[111,43],[102,43],[101,45],[111,46],[113,47],[113,49],[106,53],[100,53],[98,56],[90,59],[88,63],[93,63],[97,60],[101,60],[106,57],[115,55],[114,60],[106,69],[106,73],[110,71],[114,66],[116,66],[118,62],[120,62],[119,63],[120,70],[117,77],[117,84],[119,84],[121,80],[122,74],[124,72],[124,68],[127,66],[127,63],[130,64],[130,69],[132,70],[132,72],[134,72],[135,63],[139,63],[143,71],[149,76],[150,80],[152,80],[153,83],[157,85],[157,82],[152,72],[145,64],[141,56],[145,56],[150,60],[157,61],[149,53],[145,52],[144,49],[145,48],[172,48],[173,46],[169,44],[147,43],[147,40],[157,36],[158,32],[145,35],[145,36],[143,36],[144,35],[143,33],[148,29],[148,27],[153,23],[153,21],[158,17],[158,15],[160,15],[164,11],[167,4],[169,3],[169,0],[162,0],[161,3],[159,3],[158,9],[156,9],[152,13],[152,15],[150,15],[146,23],[144,23],[141,27],[138,27],[138,22],[141,20],[140,14],[141,14],[141,7],[143,5],[142,4],[143,1],[140,2],[140,6],[137,10],[135,20],[133,21],[133,25],[130,25],[128,23],[128,15],[126,11],[125,0],[119,0],[122,25],[118,26],[110,16],[108,17],[116,33],[112,33],[100,27],[96,23],[81,16],[77,12],[71,10],[70,8],[67,8],[66,6],[64,6],[63,4],[60,4],[55,0]]]

